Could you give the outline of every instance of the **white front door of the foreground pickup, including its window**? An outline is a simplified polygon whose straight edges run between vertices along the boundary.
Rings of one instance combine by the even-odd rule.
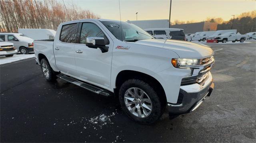
[[[80,80],[110,89],[113,41],[95,22],[80,23],[80,42],[75,45],[76,77]],[[108,52],[86,46],[86,37],[104,37],[109,41]]]

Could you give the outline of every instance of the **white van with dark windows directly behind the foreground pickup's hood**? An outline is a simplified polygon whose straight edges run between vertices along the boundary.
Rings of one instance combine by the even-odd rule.
[[[178,28],[150,28],[144,29],[157,39],[186,40],[184,30]]]

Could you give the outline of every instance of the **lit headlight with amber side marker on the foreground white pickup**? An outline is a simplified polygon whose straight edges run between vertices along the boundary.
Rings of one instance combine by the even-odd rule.
[[[172,65],[176,68],[186,67],[188,65],[200,65],[200,59],[172,59]]]

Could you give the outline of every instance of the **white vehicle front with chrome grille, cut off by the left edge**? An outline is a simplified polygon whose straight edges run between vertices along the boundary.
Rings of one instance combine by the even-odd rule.
[[[4,37],[0,35],[0,56],[12,57],[18,51],[13,46],[13,43],[5,42]]]

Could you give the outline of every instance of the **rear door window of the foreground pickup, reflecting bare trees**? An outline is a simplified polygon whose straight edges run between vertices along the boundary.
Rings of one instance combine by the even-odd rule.
[[[76,43],[77,24],[63,25],[60,41],[65,43]]]

